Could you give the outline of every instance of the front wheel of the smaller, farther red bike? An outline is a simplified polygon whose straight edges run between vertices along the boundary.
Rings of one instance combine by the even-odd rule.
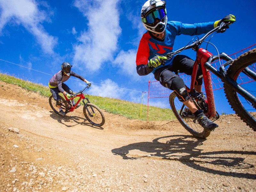
[[[92,103],[84,105],[84,116],[85,118],[95,126],[102,126],[105,123],[105,116],[101,109]]]

